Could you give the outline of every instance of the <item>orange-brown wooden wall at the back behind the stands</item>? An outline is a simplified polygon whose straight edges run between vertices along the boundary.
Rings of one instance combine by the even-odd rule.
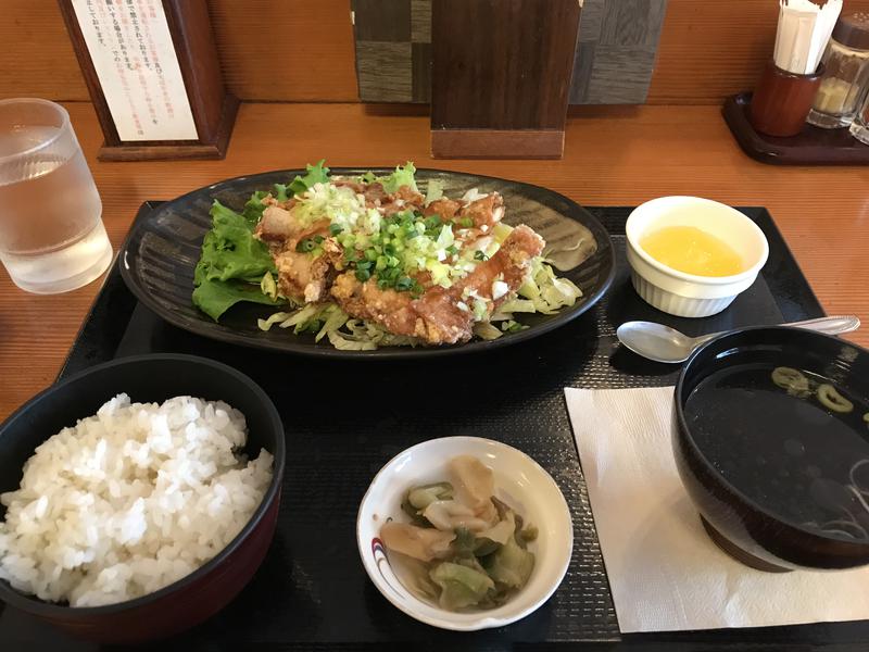
[[[349,0],[209,0],[226,82],[244,100],[356,101]],[[772,53],[778,0],[669,0],[648,102],[718,103]],[[845,0],[869,11],[869,0]],[[87,100],[56,0],[0,0],[0,97]]]

